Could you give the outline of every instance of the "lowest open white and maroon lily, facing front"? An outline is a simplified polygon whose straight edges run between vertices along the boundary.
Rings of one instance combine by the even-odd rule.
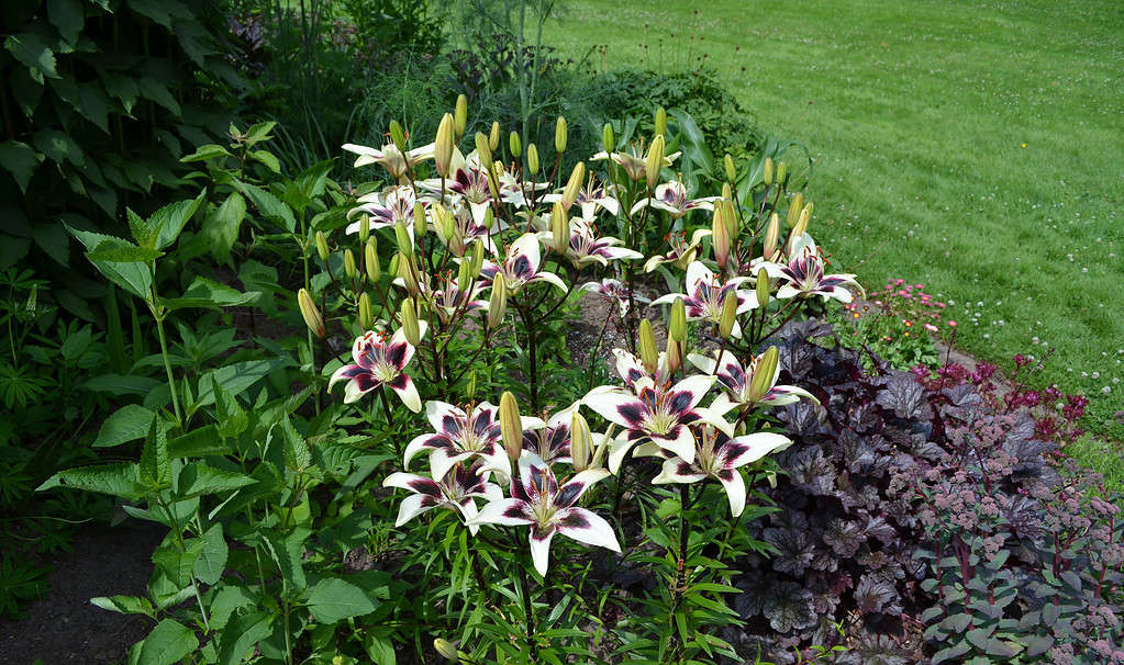
[[[531,526],[531,558],[535,570],[544,576],[555,534],[619,553],[620,545],[609,522],[574,505],[590,485],[608,475],[604,468],[589,468],[559,486],[550,465],[534,453],[524,450],[519,457],[519,477],[511,479],[511,498],[489,502],[469,523]]]

